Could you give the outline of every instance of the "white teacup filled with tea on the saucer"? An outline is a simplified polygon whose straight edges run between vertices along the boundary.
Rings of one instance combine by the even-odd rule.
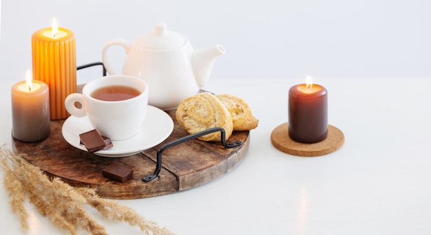
[[[114,93],[120,94],[109,93],[106,89],[114,89]],[[96,93],[100,95],[98,98],[94,98]],[[119,100],[120,96],[132,98]],[[80,103],[81,108],[76,103]],[[148,85],[140,78],[125,75],[96,78],[83,87],[82,94],[72,93],[65,99],[65,107],[71,115],[87,115],[92,126],[112,140],[129,139],[136,135],[144,122],[147,106]]]

